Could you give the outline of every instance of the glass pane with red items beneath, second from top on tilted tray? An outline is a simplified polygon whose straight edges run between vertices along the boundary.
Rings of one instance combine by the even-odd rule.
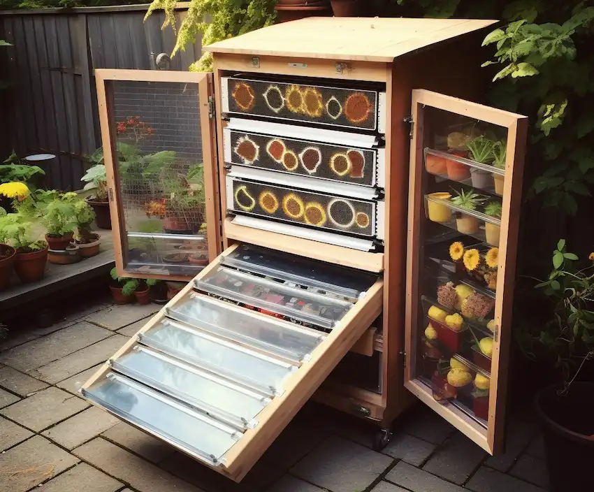
[[[196,289],[258,308],[273,316],[281,315],[305,324],[331,330],[347,314],[352,303],[316,294],[305,289],[268,280],[256,275],[219,266],[194,281]]]

